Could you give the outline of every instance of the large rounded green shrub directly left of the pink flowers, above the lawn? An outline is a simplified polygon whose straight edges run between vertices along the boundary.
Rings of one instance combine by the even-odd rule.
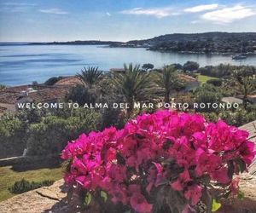
[[[65,141],[72,140],[82,132],[96,130],[101,116],[98,112],[81,109],[71,117],[49,116],[29,128],[27,139],[28,155],[58,154]]]

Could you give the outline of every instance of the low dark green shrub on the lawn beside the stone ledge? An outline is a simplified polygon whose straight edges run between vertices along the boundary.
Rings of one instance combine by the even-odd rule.
[[[52,185],[55,181],[46,180],[46,181],[26,181],[25,179],[22,179],[21,181],[15,181],[15,184],[12,187],[9,187],[10,193],[26,193],[28,191],[31,191],[33,189],[37,189],[39,187],[49,187]]]

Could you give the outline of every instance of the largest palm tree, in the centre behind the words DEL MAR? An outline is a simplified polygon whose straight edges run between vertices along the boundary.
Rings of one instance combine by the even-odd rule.
[[[113,73],[112,83],[114,88],[124,95],[128,103],[128,117],[131,117],[132,108],[136,101],[145,101],[151,90],[150,74],[141,72],[140,66],[124,65],[124,72]]]

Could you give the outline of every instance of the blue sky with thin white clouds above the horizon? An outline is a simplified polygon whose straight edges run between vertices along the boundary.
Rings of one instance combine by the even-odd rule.
[[[256,32],[254,0],[0,0],[0,41],[128,41]]]

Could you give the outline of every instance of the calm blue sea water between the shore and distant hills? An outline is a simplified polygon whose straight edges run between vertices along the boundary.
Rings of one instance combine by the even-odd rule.
[[[160,53],[146,49],[108,48],[90,45],[0,45],[0,83],[19,85],[44,83],[53,76],[74,75],[84,66],[109,68],[122,67],[124,63],[152,63],[155,67],[197,61],[201,66],[230,63],[256,66],[256,56],[234,61],[224,55],[193,55]]]

